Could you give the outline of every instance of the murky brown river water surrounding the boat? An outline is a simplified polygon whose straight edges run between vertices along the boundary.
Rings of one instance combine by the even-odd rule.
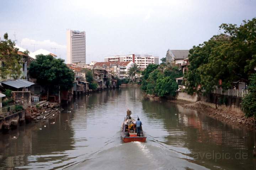
[[[252,132],[175,103],[146,100],[137,87],[80,96],[63,108],[54,120],[0,134],[0,169],[256,167]],[[127,108],[142,121],[146,143],[122,142],[120,129]]]

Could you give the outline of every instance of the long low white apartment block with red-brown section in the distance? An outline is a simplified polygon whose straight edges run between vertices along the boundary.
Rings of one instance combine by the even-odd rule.
[[[152,55],[138,55],[138,54],[130,54],[127,56],[112,56],[105,57],[105,62],[111,61],[132,61],[136,63],[140,68],[145,69],[149,64],[159,64],[159,57],[155,57]]]

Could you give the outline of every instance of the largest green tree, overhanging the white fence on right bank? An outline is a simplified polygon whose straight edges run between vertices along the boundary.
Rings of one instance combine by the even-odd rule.
[[[190,50],[185,75],[189,94],[208,93],[218,86],[229,89],[233,81],[248,79],[255,72],[256,19],[244,21],[239,27],[222,24],[220,29],[225,34],[214,35]]]

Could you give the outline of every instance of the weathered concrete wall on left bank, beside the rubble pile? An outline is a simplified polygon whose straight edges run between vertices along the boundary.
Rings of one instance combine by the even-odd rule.
[[[12,91],[12,98],[15,102],[20,102],[24,109],[31,106],[31,92],[30,91]]]

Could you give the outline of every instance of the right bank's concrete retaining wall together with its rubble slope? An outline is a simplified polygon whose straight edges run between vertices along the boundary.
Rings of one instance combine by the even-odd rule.
[[[144,97],[151,101],[166,100],[166,98],[156,97],[155,95],[145,94]],[[247,118],[241,111],[240,98],[228,98],[228,104],[220,104],[219,99],[222,96],[211,95],[208,100],[206,96],[188,95],[186,92],[178,92],[176,98],[168,100],[172,103],[180,104],[184,108],[199,111],[202,114],[207,114],[209,117],[220,120],[223,123],[229,124],[234,128],[245,128],[247,130],[254,129],[254,117]],[[198,101],[202,100],[202,101]],[[208,101],[208,102],[206,102]],[[217,101],[216,104],[213,101]],[[217,104],[218,103],[218,104]]]

